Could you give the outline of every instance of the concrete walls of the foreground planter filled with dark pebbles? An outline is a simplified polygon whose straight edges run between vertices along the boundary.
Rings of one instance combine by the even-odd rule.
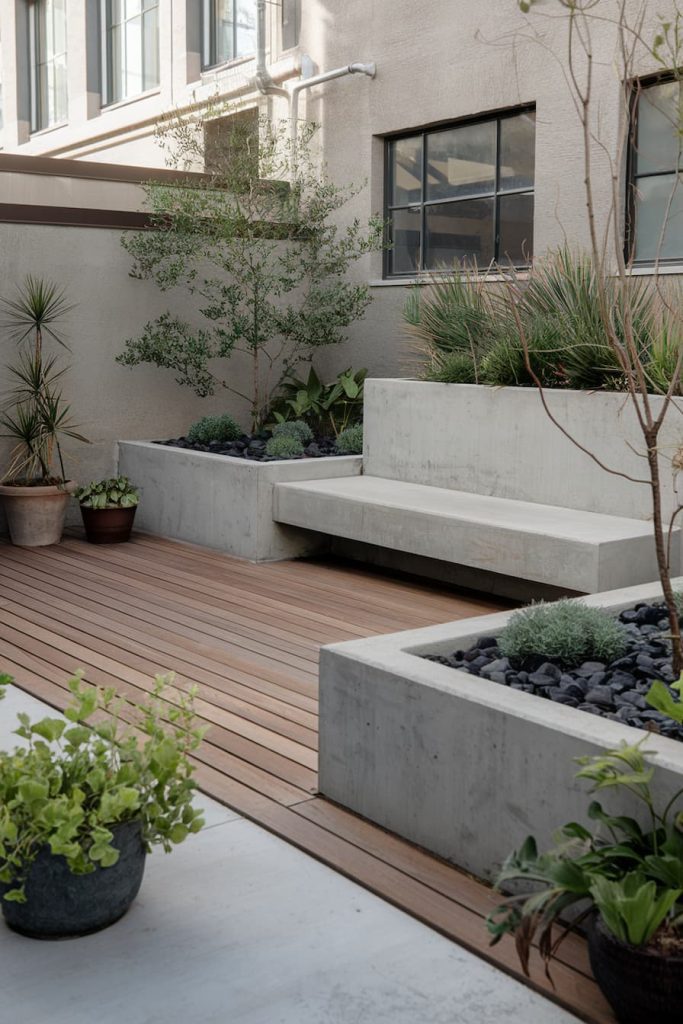
[[[582,600],[620,611],[660,596],[650,584]],[[585,819],[578,756],[642,739],[658,793],[683,786],[683,743],[418,656],[496,635],[509,614],[336,644],[321,657],[322,793],[480,878],[525,836],[547,844]]]

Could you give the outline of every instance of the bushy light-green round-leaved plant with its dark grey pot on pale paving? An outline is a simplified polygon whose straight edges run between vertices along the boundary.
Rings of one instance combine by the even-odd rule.
[[[77,673],[65,718],[18,716],[24,744],[0,752],[0,906],[10,928],[63,938],[114,924],[137,894],[145,853],[201,829],[189,755],[204,730],[195,689],[163,699],[171,682],[158,676],[132,705]]]

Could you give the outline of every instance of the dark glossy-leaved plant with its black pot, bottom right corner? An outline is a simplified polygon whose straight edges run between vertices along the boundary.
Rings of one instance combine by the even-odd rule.
[[[514,935],[528,974],[538,942],[548,971],[568,932],[587,921],[591,967],[621,1024],[671,1024],[683,1019],[683,791],[655,806],[640,744],[577,760],[591,792],[625,791],[643,819],[612,816],[594,801],[595,828],[569,822],[543,854],[529,837],[498,879],[514,894],[488,918],[493,943]]]

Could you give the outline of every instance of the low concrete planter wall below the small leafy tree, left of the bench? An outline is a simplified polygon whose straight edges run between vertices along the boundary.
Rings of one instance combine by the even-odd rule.
[[[140,487],[137,529],[252,561],[314,554],[325,544],[314,534],[272,521],[274,483],[355,476],[361,466],[360,456],[261,463],[147,441],[119,442],[119,472]]]

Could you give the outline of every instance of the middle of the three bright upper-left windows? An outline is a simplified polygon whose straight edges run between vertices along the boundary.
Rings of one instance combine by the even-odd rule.
[[[103,0],[104,99],[116,103],[159,85],[159,0]]]

